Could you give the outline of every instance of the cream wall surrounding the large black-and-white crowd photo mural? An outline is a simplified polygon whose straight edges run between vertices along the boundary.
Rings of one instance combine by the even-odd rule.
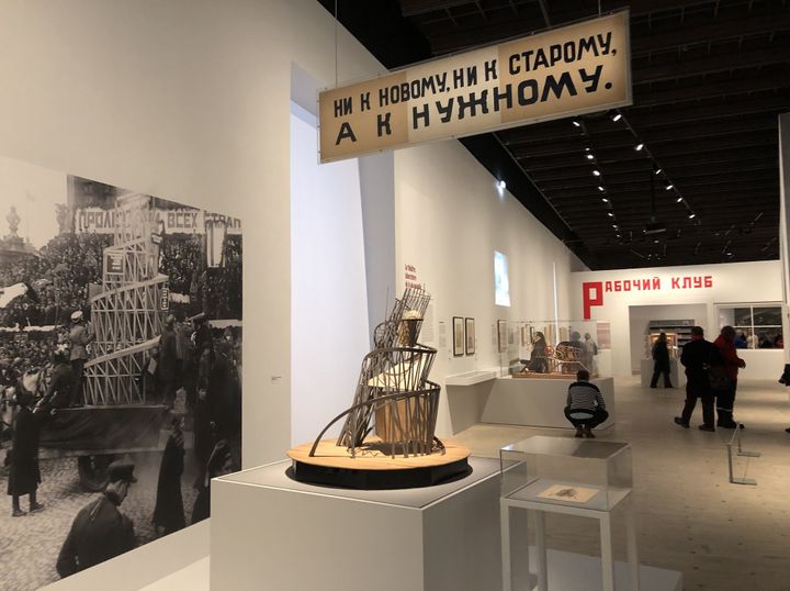
[[[334,85],[335,34],[313,0],[0,0],[0,154],[242,220],[245,466],[291,443],[292,64]],[[383,71],[338,40],[340,82]],[[114,589],[195,559],[162,544]]]

